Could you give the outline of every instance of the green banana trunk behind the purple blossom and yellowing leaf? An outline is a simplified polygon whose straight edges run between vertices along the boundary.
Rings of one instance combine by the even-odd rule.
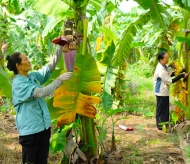
[[[78,9],[77,9],[78,10]],[[82,55],[90,55],[87,48],[87,29],[88,19],[86,18],[86,6],[80,8],[78,11],[81,15],[76,15],[76,28],[77,33],[83,36],[83,41],[79,44],[77,53]],[[85,93],[88,94],[88,93]],[[90,94],[90,93],[89,93]],[[97,156],[97,139],[95,133],[94,119],[86,116],[81,116],[82,122],[82,133],[81,133],[81,144],[86,147],[85,155],[90,160],[92,157]]]

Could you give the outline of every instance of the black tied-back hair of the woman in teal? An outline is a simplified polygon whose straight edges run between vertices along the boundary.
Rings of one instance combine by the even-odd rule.
[[[7,68],[10,71],[13,71],[15,75],[18,74],[16,64],[17,63],[20,64],[22,61],[22,58],[20,58],[20,54],[21,54],[21,52],[15,52],[12,55],[8,55],[6,57],[6,60],[8,61]]]

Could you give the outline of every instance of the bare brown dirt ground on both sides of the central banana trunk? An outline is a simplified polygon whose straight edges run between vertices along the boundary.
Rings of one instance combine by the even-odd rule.
[[[116,117],[120,117],[117,115]],[[133,127],[133,131],[124,131],[119,124]],[[108,134],[104,141],[107,151],[111,143],[111,123],[108,120]],[[175,133],[164,133],[155,127],[154,118],[129,115],[115,125],[117,150],[109,157],[108,163],[115,164],[183,164],[182,150]],[[122,157],[122,160],[118,160]],[[49,157],[49,164],[57,164],[60,154]],[[20,164],[21,146],[18,144],[18,133],[14,118],[0,114],[0,164]]]

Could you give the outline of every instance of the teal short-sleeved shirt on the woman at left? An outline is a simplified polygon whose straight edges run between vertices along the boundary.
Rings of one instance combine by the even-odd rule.
[[[20,136],[34,134],[51,126],[50,114],[44,98],[33,98],[36,87],[49,79],[51,72],[47,66],[28,77],[16,75],[12,84],[13,104],[16,109],[16,126]]]

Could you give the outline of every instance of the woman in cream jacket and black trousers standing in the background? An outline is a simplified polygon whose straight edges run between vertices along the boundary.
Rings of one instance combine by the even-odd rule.
[[[156,95],[156,125],[158,130],[162,130],[161,122],[169,121],[169,87],[172,83],[181,78],[188,77],[187,73],[182,73],[175,78],[171,78],[174,73],[168,64],[168,54],[164,51],[158,53],[158,65],[154,73],[154,92]]]

